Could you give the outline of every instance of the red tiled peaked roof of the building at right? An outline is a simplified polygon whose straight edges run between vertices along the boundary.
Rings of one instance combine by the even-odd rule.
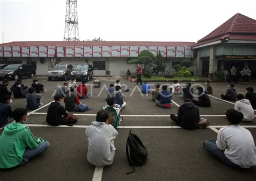
[[[229,37],[230,40],[256,40],[256,20],[237,13],[192,46]]]

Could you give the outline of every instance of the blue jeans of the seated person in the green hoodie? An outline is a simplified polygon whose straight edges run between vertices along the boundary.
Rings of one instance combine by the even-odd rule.
[[[36,149],[26,148],[24,155],[23,155],[22,162],[21,162],[21,164],[19,164],[19,166],[25,165],[26,163],[29,162],[29,160],[31,158],[33,158],[39,154],[42,154],[42,152],[47,150],[49,147],[50,147],[50,143],[48,141],[44,141]]]

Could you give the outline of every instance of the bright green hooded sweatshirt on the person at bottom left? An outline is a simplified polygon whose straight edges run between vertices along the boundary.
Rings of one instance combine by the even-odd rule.
[[[36,149],[39,142],[29,127],[19,122],[8,124],[0,136],[0,168],[12,168],[22,162],[25,148]]]

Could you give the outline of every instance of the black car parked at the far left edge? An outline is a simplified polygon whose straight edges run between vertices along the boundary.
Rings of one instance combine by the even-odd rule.
[[[14,79],[28,76],[33,78],[36,74],[36,69],[30,64],[10,64],[3,69],[0,69],[0,79]]]

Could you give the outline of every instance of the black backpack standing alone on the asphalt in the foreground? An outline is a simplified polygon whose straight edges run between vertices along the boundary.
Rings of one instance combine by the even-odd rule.
[[[131,133],[131,130],[126,142],[126,157],[129,165],[133,166],[133,171],[126,174],[133,173],[135,166],[142,166],[147,161],[147,148],[136,134]]]

